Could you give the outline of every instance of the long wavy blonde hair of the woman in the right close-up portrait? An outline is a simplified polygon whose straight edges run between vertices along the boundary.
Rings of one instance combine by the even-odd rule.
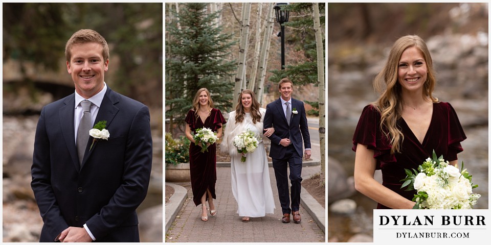
[[[390,139],[390,144],[392,145],[391,154],[400,153],[400,144],[404,140],[404,135],[397,125],[397,119],[401,117],[403,111],[401,85],[398,82],[398,64],[400,57],[408,47],[416,47],[426,61],[428,71],[427,80],[423,85],[423,95],[429,97],[433,103],[438,102],[438,99],[432,95],[436,84],[435,71],[433,70],[433,61],[425,41],[416,35],[408,35],[397,39],[390,50],[387,63],[373,80],[373,87],[381,95],[372,105],[382,115],[380,128],[386,137]]]

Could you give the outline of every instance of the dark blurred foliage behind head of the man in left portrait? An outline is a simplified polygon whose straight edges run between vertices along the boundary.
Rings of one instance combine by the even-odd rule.
[[[161,106],[162,12],[163,3],[4,3],[4,61],[57,70],[71,35],[93,29],[109,44],[111,88]]]

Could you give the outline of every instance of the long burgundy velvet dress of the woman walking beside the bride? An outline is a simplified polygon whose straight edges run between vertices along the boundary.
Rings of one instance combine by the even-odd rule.
[[[205,119],[205,122],[199,116],[196,116],[193,110],[188,111],[185,121],[191,128],[193,134],[196,133],[197,129],[203,127],[216,132],[221,128],[222,124],[226,124],[225,118],[220,110],[215,108],[211,109],[211,113]],[[207,188],[210,190],[213,199],[216,199],[216,143],[208,146],[208,152],[201,153],[201,148],[191,142],[189,146],[189,168],[194,204],[196,206],[201,204],[201,198]],[[208,200],[208,195],[206,195],[206,200]]]

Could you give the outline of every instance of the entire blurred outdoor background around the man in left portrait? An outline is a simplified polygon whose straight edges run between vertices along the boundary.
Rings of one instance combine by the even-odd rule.
[[[41,108],[74,92],[64,47],[80,29],[109,44],[106,84],[150,109],[152,173],[137,212],[141,241],[162,242],[162,23],[162,3],[3,4],[4,242],[39,240],[42,219],[30,187],[34,134]]]

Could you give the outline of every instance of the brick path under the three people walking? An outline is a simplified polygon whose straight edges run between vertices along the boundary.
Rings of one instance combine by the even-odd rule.
[[[217,167],[216,196],[213,200],[217,215],[208,213],[208,221],[201,220],[201,205],[192,201],[191,183],[177,183],[188,189],[188,198],[166,234],[166,242],[325,242],[325,234],[300,206],[302,222],[281,223],[274,170],[270,167],[271,187],[275,199],[275,213],[241,222],[237,203],[232,194],[230,167]],[[320,166],[303,167],[305,180],[320,171]]]

